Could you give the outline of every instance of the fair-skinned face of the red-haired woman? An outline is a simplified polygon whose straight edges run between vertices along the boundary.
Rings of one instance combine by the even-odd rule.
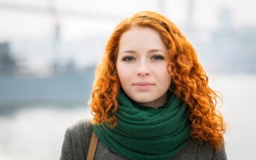
[[[122,34],[116,68],[122,89],[135,102],[152,107],[166,103],[168,62],[166,46],[154,29],[135,27]]]

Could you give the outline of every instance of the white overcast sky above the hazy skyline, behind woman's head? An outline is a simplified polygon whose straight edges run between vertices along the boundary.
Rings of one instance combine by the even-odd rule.
[[[187,0],[163,1],[163,7],[159,7],[159,1],[81,1],[62,0],[56,1],[57,10],[76,10],[84,13],[99,13],[115,15],[117,18],[107,20],[93,19],[90,17],[74,18],[59,16],[60,24],[63,25],[63,39],[80,39],[85,34],[110,33],[116,24],[127,16],[141,10],[154,10],[171,19],[177,25],[185,25],[187,22]],[[11,4],[42,8],[41,12],[11,10]],[[52,19],[47,13],[49,1],[33,0],[1,0],[0,1],[0,41],[13,38],[28,38],[44,36],[51,33]],[[252,0],[194,0],[193,1],[193,24],[197,28],[214,30],[218,28],[218,11],[228,8],[232,13],[234,27],[243,25],[256,26],[254,7],[256,1]]]

